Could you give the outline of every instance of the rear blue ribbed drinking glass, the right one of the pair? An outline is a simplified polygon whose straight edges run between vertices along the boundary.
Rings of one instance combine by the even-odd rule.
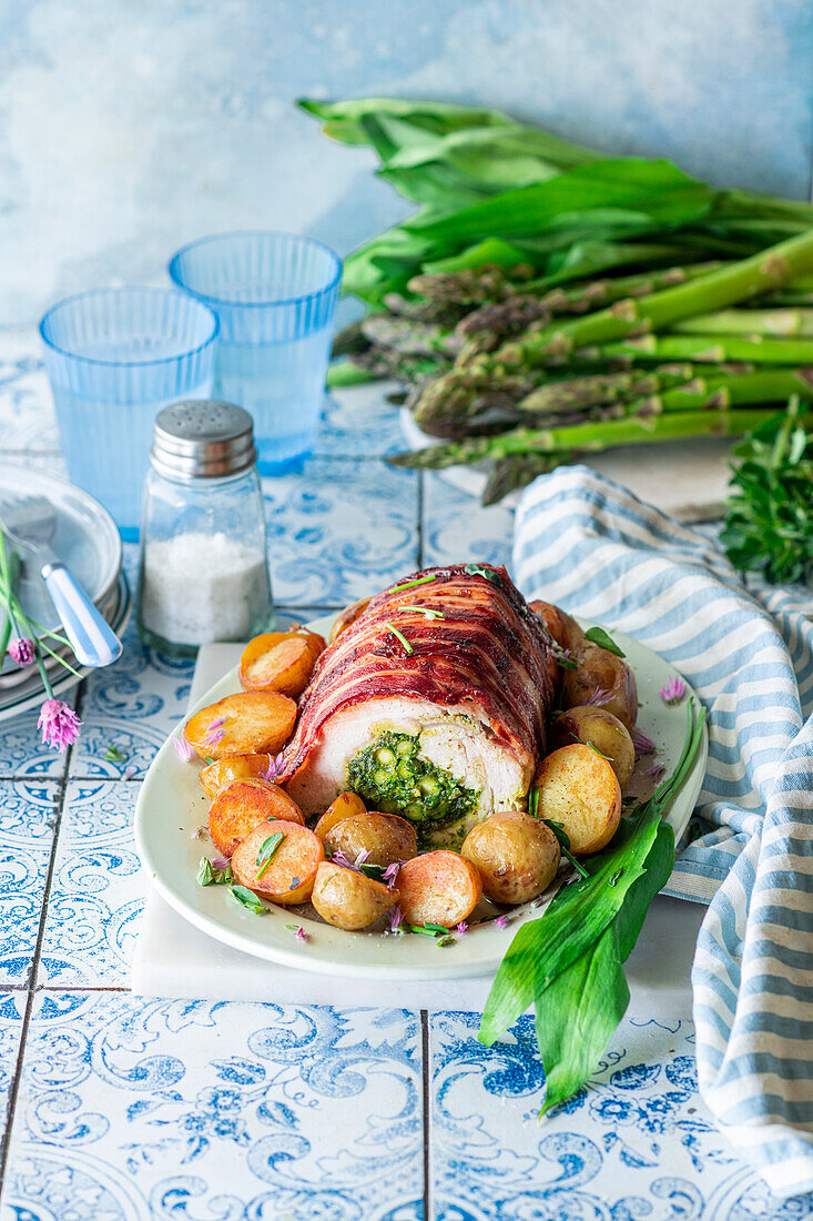
[[[291,233],[223,233],[183,247],[168,271],[220,319],[215,396],[254,418],[260,473],[299,465],[319,429],[338,256]]]

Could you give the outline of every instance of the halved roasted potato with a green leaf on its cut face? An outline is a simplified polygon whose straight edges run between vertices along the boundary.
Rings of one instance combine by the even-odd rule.
[[[270,860],[264,857],[267,840],[284,836]],[[236,882],[271,902],[304,904],[310,899],[316,871],[325,860],[322,841],[299,823],[260,823],[237,845],[232,856]]]

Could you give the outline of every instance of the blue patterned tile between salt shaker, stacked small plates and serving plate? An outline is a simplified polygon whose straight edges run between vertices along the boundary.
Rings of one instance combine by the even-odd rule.
[[[134,768],[142,779],[187,709],[193,663],[146,648],[132,621],[122,639],[120,661],[84,680],[83,724],[71,756],[71,777],[120,779]],[[111,746],[123,762],[105,758]]]

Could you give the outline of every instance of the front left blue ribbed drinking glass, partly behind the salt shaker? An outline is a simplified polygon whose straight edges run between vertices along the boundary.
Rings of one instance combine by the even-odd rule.
[[[217,317],[166,288],[100,288],[39,324],[70,477],[134,540],[153,422],[184,398],[210,398]]]

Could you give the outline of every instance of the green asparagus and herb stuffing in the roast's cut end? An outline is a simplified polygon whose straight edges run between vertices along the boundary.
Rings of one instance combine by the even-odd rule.
[[[444,827],[471,813],[480,796],[420,755],[420,740],[387,730],[359,751],[347,769],[348,788],[385,814],[420,827]]]

